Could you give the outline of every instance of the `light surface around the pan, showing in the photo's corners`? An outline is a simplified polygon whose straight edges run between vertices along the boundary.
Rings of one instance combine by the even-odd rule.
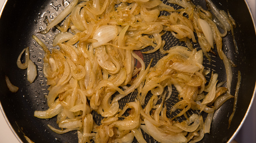
[[[5,0],[0,0],[0,8],[2,8]],[[252,10],[254,18],[256,17],[256,0],[247,0]],[[236,136],[238,143],[254,142],[256,143],[256,98],[249,112],[244,125]],[[0,143],[20,143],[16,136],[12,133],[8,123],[6,122],[2,112],[0,111]]]

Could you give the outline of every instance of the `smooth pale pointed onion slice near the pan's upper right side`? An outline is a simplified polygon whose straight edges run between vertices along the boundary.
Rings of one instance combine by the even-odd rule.
[[[203,35],[205,36],[206,40],[209,42],[209,44],[213,48],[213,33],[212,33],[212,28],[210,24],[207,21],[200,18],[198,19],[198,22],[203,31]]]

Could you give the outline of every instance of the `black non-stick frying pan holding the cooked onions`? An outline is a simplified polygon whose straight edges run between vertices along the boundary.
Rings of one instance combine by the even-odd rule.
[[[216,110],[210,134],[205,134],[200,143],[230,142],[242,126],[255,96],[256,58],[254,53],[256,37],[255,27],[247,4],[244,0],[212,1],[219,9],[229,11],[237,24],[234,34],[239,49],[238,53],[235,52],[230,33],[223,38],[224,52],[237,65],[236,68],[232,68],[233,82],[231,94],[234,95],[235,92],[238,70],[241,71],[242,80],[237,108],[230,128],[228,128],[228,118],[232,113],[234,99],[229,99]],[[51,20],[63,10],[68,2],[70,0],[64,0],[63,2],[62,0],[8,0],[2,11],[0,18],[0,102],[2,111],[4,111],[12,129],[22,142],[27,142],[24,135],[36,143],[77,142],[75,131],[59,135],[47,127],[47,124],[50,124],[57,128],[55,117],[52,119],[38,119],[33,116],[35,110],[46,110],[48,108],[45,98],[45,95],[48,94],[48,86],[46,85],[47,79],[42,73],[44,53],[40,46],[32,40],[31,36],[32,34],[37,35],[49,48],[52,48],[51,40],[55,35],[54,33],[58,33],[58,31],[52,28],[46,35],[37,34],[37,32],[46,27],[43,23],[45,16]],[[206,8],[204,0],[193,0],[193,2]],[[167,47],[172,46],[173,43],[170,35],[167,32],[167,35],[163,37],[166,40]],[[178,40],[176,40],[176,44],[185,46],[184,43]],[[194,46],[199,47],[198,44]],[[20,70],[16,65],[18,55],[26,47],[30,47],[30,58],[35,62],[38,69],[38,76],[32,84],[27,81],[26,70]],[[147,60],[151,57],[159,59],[161,55],[156,52],[149,56],[144,56],[144,61],[147,63]],[[207,62],[207,59],[204,59],[206,68],[218,72],[219,80],[225,81],[225,70],[222,60],[219,59],[218,55],[214,56],[211,54],[211,57],[213,59],[211,64]],[[20,88],[17,93],[9,91],[5,83],[5,75],[10,78],[12,84]],[[209,79],[209,76],[206,78]],[[177,92],[174,92],[170,100],[175,100],[175,98],[177,98]],[[120,104],[124,104],[126,99],[120,102]],[[171,105],[169,103],[169,106]],[[93,116],[99,124],[101,117],[97,114]],[[203,117],[205,118],[204,114]],[[149,136],[145,135],[145,137],[148,142],[149,140],[156,142]],[[136,139],[134,142],[137,142]]]

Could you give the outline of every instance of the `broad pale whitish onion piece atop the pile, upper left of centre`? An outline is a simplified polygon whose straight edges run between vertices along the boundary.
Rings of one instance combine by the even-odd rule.
[[[97,42],[93,42],[94,48],[99,47],[117,37],[117,26],[116,25],[102,25],[99,26],[95,31],[93,38]]]

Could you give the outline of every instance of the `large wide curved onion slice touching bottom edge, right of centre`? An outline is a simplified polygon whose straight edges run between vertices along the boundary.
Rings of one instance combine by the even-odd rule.
[[[147,127],[147,130],[149,134],[158,142],[161,143],[183,143],[183,142],[188,142],[187,138],[184,135],[181,134],[175,134],[175,135],[170,135],[170,134],[165,134],[160,132],[157,127],[152,124],[150,121],[147,119],[144,119],[145,125]]]

